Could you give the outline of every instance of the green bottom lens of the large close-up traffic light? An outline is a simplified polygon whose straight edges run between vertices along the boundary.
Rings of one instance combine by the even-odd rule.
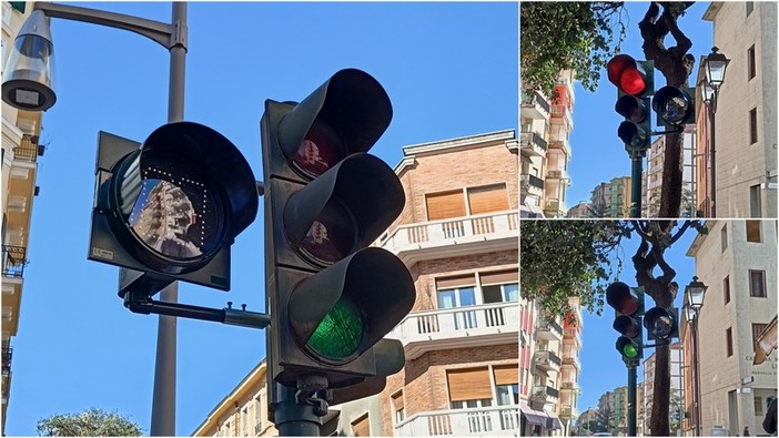
[[[363,333],[357,306],[342,297],[311,335],[307,346],[327,359],[344,360],[357,352]]]

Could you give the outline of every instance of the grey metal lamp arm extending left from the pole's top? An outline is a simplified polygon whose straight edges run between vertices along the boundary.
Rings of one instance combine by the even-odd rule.
[[[82,21],[110,28],[124,29],[156,41],[165,49],[181,45],[186,49],[186,24],[168,24],[123,13],[101,11],[68,4],[37,1],[34,9],[43,11],[47,17]]]

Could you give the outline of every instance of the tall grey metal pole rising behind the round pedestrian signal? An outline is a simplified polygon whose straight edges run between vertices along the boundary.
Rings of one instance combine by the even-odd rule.
[[[184,70],[186,58],[186,2],[174,1],[172,8],[173,35],[170,48],[170,79],[168,94],[168,122],[184,120]],[[160,293],[168,303],[179,302],[179,283],[174,282]],[[176,318],[160,315],[154,364],[154,393],[152,395],[151,436],[175,436],[175,366]]]

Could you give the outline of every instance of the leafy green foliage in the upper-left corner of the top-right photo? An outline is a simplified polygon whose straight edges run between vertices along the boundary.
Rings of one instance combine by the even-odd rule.
[[[623,14],[621,2],[520,2],[523,88],[553,96],[557,75],[573,70],[595,91],[600,70],[625,39]]]

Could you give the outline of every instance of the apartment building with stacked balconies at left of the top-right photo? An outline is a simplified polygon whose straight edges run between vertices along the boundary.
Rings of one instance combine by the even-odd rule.
[[[563,217],[568,212],[570,131],[574,129],[574,81],[563,71],[552,101],[542,93],[523,92],[520,101],[520,212],[525,217]]]

